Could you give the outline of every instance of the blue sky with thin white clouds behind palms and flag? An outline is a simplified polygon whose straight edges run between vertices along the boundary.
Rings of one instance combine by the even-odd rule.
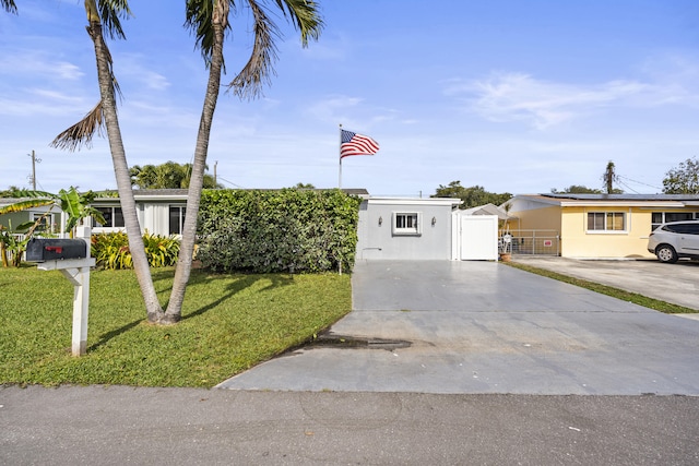
[[[0,189],[31,186],[33,150],[38,189],[116,188],[106,139],[49,147],[98,98],[83,2],[17,3],[19,16],[0,14]],[[185,2],[130,3],[127,40],[109,41],[127,157],[189,163],[206,71]],[[209,166],[223,184],[336,187],[340,123],[380,144],[343,160],[343,187],[375,195],[428,196],[454,180],[511,193],[601,188],[609,160],[619,188],[655,193],[699,156],[696,0],[320,3],[325,27],[307,49],[279,19],[262,98],[222,93]],[[249,31],[240,9],[224,82],[248,57]]]

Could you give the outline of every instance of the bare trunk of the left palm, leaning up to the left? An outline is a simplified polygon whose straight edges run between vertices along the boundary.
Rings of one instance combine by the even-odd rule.
[[[94,3],[93,3],[94,4]],[[87,8],[86,3],[86,8]],[[105,126],[107,127],[107,136],[109,139],[109,150],[111,152],[111,160],[114,163],[114,171],[117,179],[117,189],[121,201],[121,211],[123,213],[123,223],[129,237],[129,249],[133,259],[133,267],[141,287],[141,294],[145,301],[147,319],[151,322],[157,322],[163,315],[163,309],[158,302],[145,248],[143,246],[143,237],[141,236],[141,226],[137,216],[135,200],[131,189],[131,177],[129,176],[129,166],[127,164],[126,151],[121,139],[121,130],[117,118],[117,105],[115,99],[114,86],[111,83],[109,50],[102,35],[102,24],[94,20],[94,15],[87,11],[90,26],[87,33],[95,46],[95,58],[97,60],[97,80],[99,82],[99,94],[102,97],[103,115]]]

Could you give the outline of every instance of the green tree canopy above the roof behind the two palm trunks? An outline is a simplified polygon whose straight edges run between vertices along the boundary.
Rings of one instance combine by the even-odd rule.
[[[205,168],[206,170],[209,167]],[[166,162],[161,165],[135,165],[129,170],[131,184],[139,189],[187,189],[192,175],[192,165],[180,165],[175,162]],[[204,174],[203,188],[222,188],[214,177]]]

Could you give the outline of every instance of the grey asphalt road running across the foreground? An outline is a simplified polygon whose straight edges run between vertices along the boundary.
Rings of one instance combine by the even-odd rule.
[[[3,465],[697,465],[688,396],[0,389]]]

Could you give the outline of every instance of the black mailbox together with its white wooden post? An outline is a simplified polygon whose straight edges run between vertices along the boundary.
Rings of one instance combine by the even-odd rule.
[[[26,260],[38,262],[39,271],[60,271],[73,284],[72,354],[87,349],[87,310],[90,308],[90,227],[78,227],[75,239],[33,239],[27,244]]]

